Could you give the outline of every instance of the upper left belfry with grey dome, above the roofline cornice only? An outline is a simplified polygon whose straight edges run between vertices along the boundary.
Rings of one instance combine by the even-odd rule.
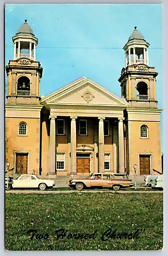
[[[36,61],[38,39],[25,20],[13,36],[14,54],[6,66],[7,104],[40,104],[42,67]]]

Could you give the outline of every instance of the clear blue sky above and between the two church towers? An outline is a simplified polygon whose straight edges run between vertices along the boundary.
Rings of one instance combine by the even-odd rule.
[[[123,46],[137,26],[150,44],[149,65],[158,72],[157,100],[162,108],[161,4],[7,4],[6,65],[13,59],[11,37],[25,19],[38,38],[36,60],[43,67],[40,95],[85,76],[121,96]]]

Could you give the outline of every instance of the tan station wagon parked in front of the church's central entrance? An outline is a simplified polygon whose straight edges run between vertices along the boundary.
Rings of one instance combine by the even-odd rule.
[[[81,190],[83,188],[113,188],[118,190],[120,188],[132,187],[134,184],[132,180],[128,179],[125,173],[118,175],[109,173],[92,173],[86,179],[72,179],[69,180],[70,188]]]

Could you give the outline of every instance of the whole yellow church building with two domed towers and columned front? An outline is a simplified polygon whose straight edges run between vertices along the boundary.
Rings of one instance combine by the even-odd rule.
[[[160,113],[149,43],[135,27],[123,47],[121,97],[80,77],[40,97],[38,39],[25,20],[6,66],[6,161],[13,174],[153,174],[161,171]]]

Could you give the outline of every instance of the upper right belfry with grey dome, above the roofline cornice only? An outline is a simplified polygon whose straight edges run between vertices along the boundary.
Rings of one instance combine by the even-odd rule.
[[[134,28],[128,38],[125,50],[125,68],[121,70],[121,96],[130,108],[157,108],[156,77],[154,67],[149,67],[149,43]]]

